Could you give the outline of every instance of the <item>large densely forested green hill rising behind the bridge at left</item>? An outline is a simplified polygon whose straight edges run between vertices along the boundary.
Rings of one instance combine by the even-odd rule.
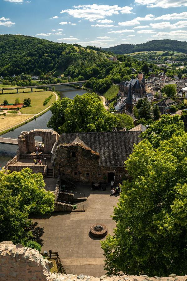
[[[86,67],[99,63],[102,70],[102,62],[108,62],[103,52],[24,35],[0,35],[0,76],[54,75],[56,71],[72,78],[85,72],[84,78],[89,79],[93,72],[86,76],[90,72]]]

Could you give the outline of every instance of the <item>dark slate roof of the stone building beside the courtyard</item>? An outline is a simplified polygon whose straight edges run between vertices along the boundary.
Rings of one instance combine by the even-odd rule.
[[[132,153],[133,145],[141,141],[141,131],[62,133],[57,141],[51,159],[55,162],[56,149],[60,144],[75,144],[81,140],[87,147],[99,153],[99,166],[123,167]]]

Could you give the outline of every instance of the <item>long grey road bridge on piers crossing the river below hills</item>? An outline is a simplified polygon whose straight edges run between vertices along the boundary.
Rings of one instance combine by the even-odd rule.
[[[6,90],[18,90],[20,89],[31,89],[31,92],[33,91],[33,88],[49,88],[49,90],[51,91],[52,87],[54,86],[70,86],[70,85],[79,85],[80,87],[82,87],[82,85],[84,83],[86,83],[87,80],[83,80],[83,81],[75,81],[75,82],[67,82],[67,83],[56,83],[56,84],[46,84],[46,85],[36,85],[36,86],[24,86],[24,87],[11,87],[11,88],[0,88],[0,91],[6,91]]]

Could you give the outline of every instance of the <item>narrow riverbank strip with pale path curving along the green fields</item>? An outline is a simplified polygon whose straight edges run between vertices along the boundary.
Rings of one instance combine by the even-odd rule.
[[[58,96],[54,91],[53,91],[52,93],[55,94],[55,97],[56,97],[56,98],[55,98],[55,101],[57,101],[58,98],[59,98],[59,96]],[[52,106],[52,103],[50,104],[50,106],[48,106],[46,109],[40,111],[39,113],[37,113],[37,114],[35,114],[35,115],[34,115],[34,114],[33,114],[33,115],[29,115],[30,117],[27,118],[27,119],[25,119],[25,116],[27,116],[27,114],[19,115],[19,118],[20,118],[20,116],[23,116],[23,118],[25,119],[25,121],[23,122],[23,120],[22,120],[22,121],[19,122],[18,124],[14,124],[13,126],[11,126],[11,127],[9,127],[9,128],[6,128],[6,130],[1,130],[1,131],[0,131],[0,136],[1,136],[1,135],[4,135],[4,134],[7,133],[7,132],[13,131],[13,130],[15,130],[15,129],[21,127],[21,126],[23,126],[24,124],[27,124],[28,122],[30,122],[30,121],[36,119],[37,117],[43,115],[44,113],[46,113],[46,112],[50,109],[51,106]],[[13,116],[13,117],[15,117],[15,116]],[[6,118],[3,118],[3,119],[6,119]],[[19,121],[20,121],[20,120],[19,120]]]

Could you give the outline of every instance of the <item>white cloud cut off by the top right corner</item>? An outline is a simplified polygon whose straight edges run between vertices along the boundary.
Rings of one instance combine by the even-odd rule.
[[[134,2],[138,5],[146,5],[148,8],[171,8],[187,6],[186,0],[135,0]]]

